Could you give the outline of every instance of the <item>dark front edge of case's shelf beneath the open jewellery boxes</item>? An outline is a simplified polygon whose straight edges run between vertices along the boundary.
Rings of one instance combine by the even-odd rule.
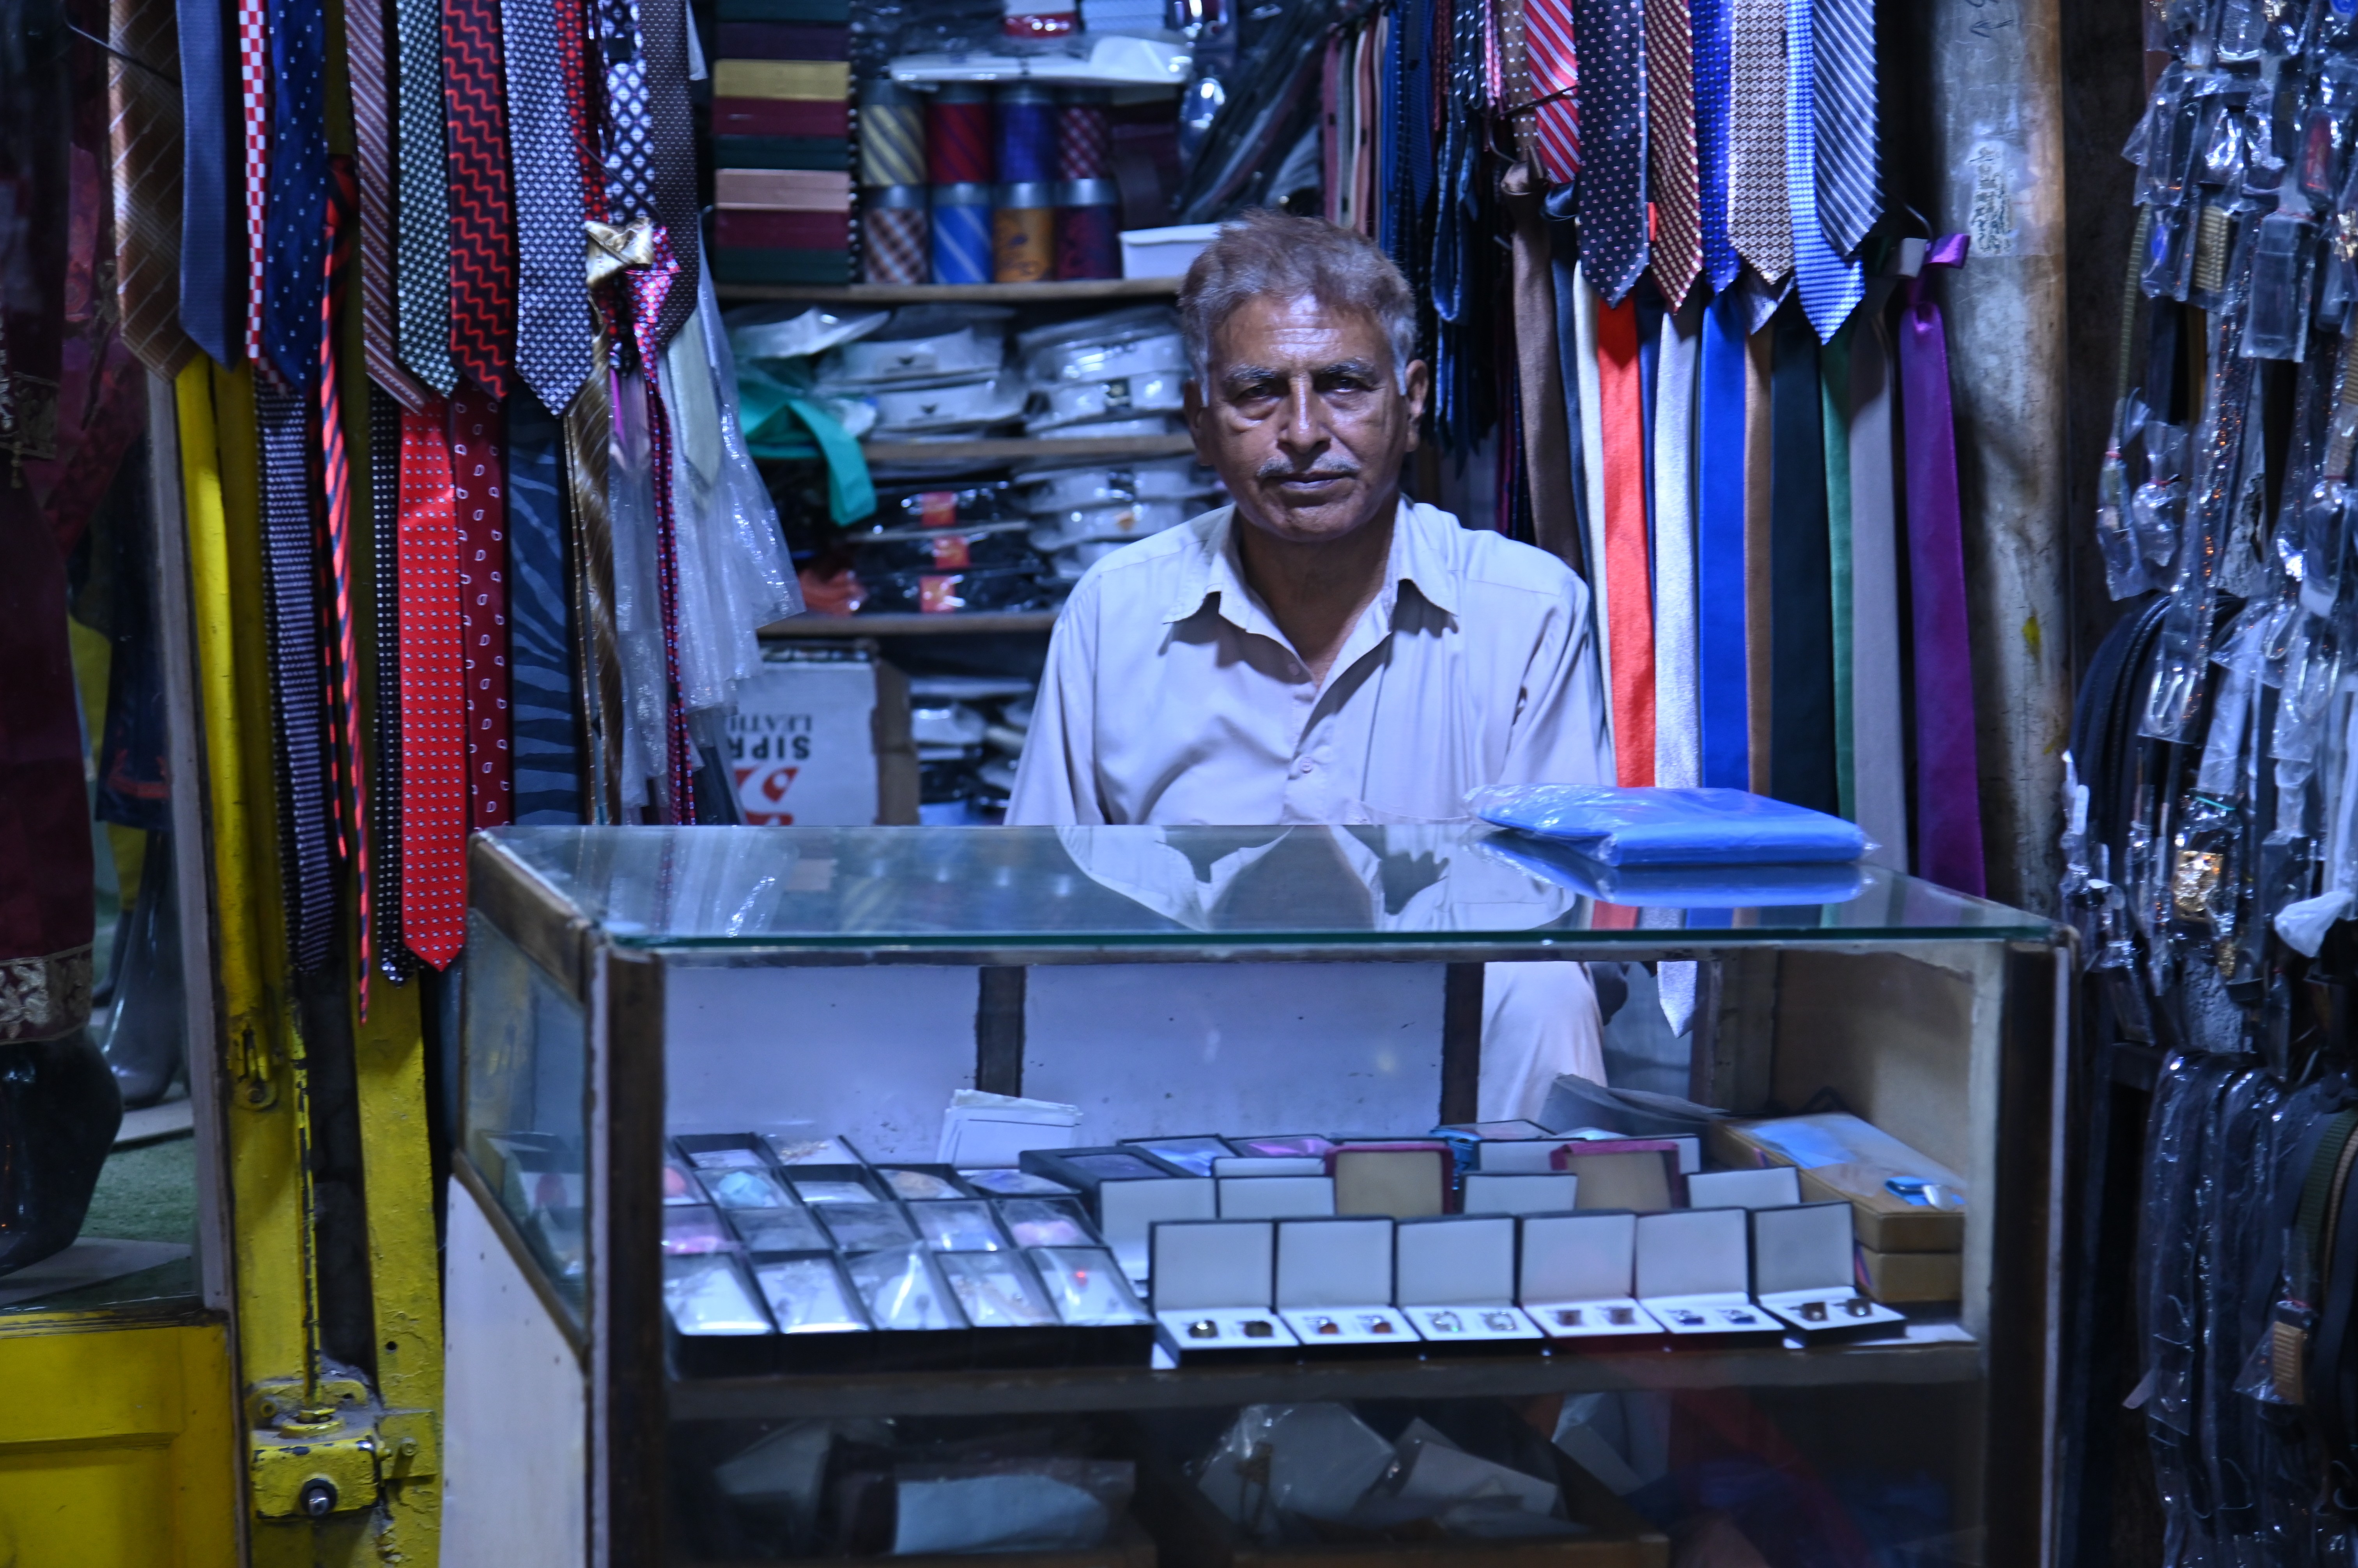
[[[1978,1344],[1823,1346],[1811,1351],[1646,1351],[1634,1356],[1467,1356],[1320,1365],[1068,1368],[1049,1372],[896,1372],[700,1377],[670,1389],[674,1419],[844,1415],[1028,1415],[1179,1410],[1318,1398],[1497,1398],[1615,1389],[1811,1389],[1983,1377]]]

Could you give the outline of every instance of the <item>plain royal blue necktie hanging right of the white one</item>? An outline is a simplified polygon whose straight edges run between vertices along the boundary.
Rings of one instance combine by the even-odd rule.
[[[1745,330],[1731,299],[1702,314],[1695,398],[1695,719],[1702,785],[1752,788],[1745,691]]]

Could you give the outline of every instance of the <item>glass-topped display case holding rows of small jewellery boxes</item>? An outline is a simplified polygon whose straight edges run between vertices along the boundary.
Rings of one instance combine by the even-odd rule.
[[[2040,917],[1478,825],[519,828],[472,903],[455,1561],[2047,1561]],[[1483,1122],[1578,960],[1693,997],[1655,1094]]]

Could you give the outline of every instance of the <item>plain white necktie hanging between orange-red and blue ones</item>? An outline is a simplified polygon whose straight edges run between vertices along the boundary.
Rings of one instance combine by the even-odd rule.
[[[1695,627],[1695,382],[1702,307],[1662,316],[1653,391],[1653,783],[1702,783]]]

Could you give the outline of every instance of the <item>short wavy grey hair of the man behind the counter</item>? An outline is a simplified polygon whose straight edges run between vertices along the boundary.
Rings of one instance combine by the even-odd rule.
[[[1179,285],[1179,335],[1196,380],[1212,377],[1212,332],[1247,299],[1316,299],[1358,311],[1391,340],[1391,375],[1405,389],[1417,356],[1417,297],[1375,241],[1318,217],[1250,207],[1219,226]]]

